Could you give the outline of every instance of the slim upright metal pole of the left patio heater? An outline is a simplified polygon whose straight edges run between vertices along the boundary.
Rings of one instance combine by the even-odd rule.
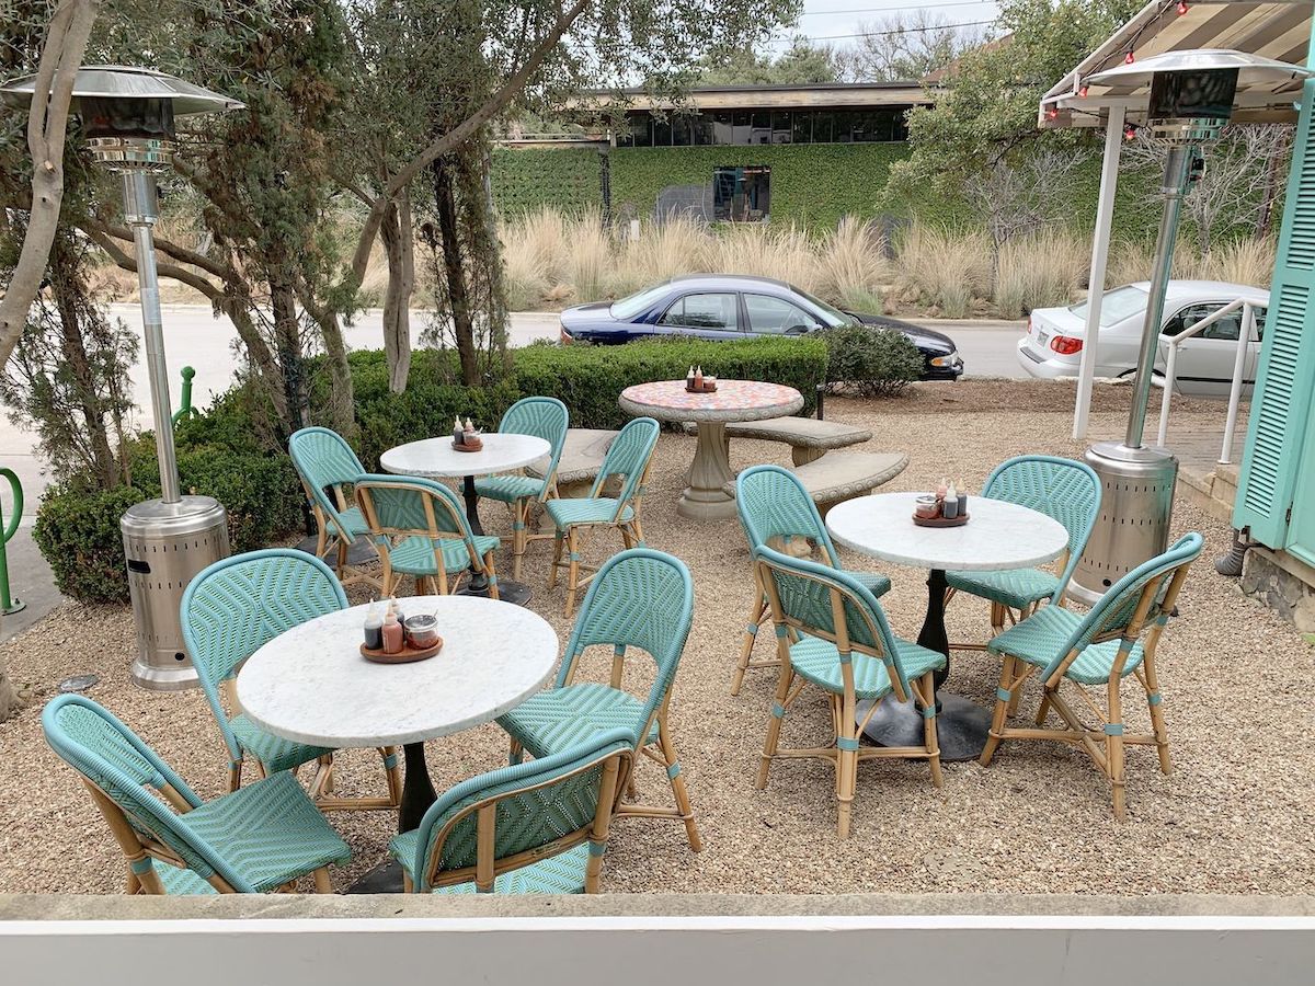
[[[158,216],[155,175],[125,171],[124,218],[133,227],[137,246],[137,284],[142,296],[142,335],[151,385],[151,417],[155,419],[155,458],[160,464],[160,500],[178,504],[178,456],[174,451],[174,415],[168,405],[168,367],[164,364],[164,325],[160,319],[160,289],[155,275],[155,242],[151,227]]]

